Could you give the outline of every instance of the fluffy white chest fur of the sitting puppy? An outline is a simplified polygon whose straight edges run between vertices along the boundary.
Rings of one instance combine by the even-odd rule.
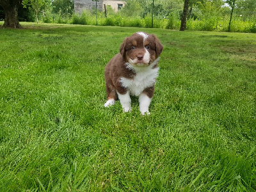
[[[140,93],[145,90],[145,88],[148,88],[156,83],[159,67],[152,68],[154,65],[156,65],[156,62],[158,62],[158,60],[153,62],[148,67],[133,67],[130,63],[126,63],[127,68],[134,70],[136,75],[132,79],[121,77],[120,83],[122,86],[129,89],[131,95],[139,96]]]

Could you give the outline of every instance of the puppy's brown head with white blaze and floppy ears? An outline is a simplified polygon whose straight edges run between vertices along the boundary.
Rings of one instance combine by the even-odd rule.
[[[132,65],[148,66],[154,62],[161,52],[163,45],[154,34],[144,32],[134,33],[126,37],[120,46],[120,54]]]

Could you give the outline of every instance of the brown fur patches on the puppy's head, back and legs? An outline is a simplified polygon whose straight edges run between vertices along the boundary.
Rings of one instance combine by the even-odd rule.
[[[120,78],[125,77],[127,79],[132,79],[136,76],[136,72],[131,68],[127,68],[126,62],[129,58],[132,60],[137,58],[138,60],[143,58],[145,54],[145,47],[148,48],[150,53],[149,63],[145,65],[150,65],[154,62],[161,52],[163,51],[163,45],[159,42],[159,39],[154,34],[148,34],[148,38],[143,44],[143,36],[138,33],[134,33],[132,36],[126,37],[124,42],[120,45],[120,52],[116,54],[105,67],[105,79],[106,79],[106,92],[107,99],[118,99],[116,91],[120,94],[125,94],[127,88],[123,87],[120,83]],[[132,46],[136,46],[136,50],[132,49]],[[157,63],[153,68],[157,67]],[[152,98],[154,94],[154,85],[150,88],[145,88],[143,93],[147,94],[148,97]]]

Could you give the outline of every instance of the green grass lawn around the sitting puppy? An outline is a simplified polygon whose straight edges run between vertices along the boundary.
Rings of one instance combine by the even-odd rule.
[[[0,191],[256,191],[256,34],[21,24],[0,28]],[[149,116],[103,106],[136,31],[164,45]]]

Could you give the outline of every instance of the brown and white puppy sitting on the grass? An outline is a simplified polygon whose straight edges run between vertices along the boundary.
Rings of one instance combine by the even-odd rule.
[[[162,51],[163,45],[154,34],[138,32],[126,37],[120,52],[105,67],[108,100],[104,106],[119,99],[124,111],[131,111],[130,95],[134,95],[139,97],[141,114],[149,114]]]

